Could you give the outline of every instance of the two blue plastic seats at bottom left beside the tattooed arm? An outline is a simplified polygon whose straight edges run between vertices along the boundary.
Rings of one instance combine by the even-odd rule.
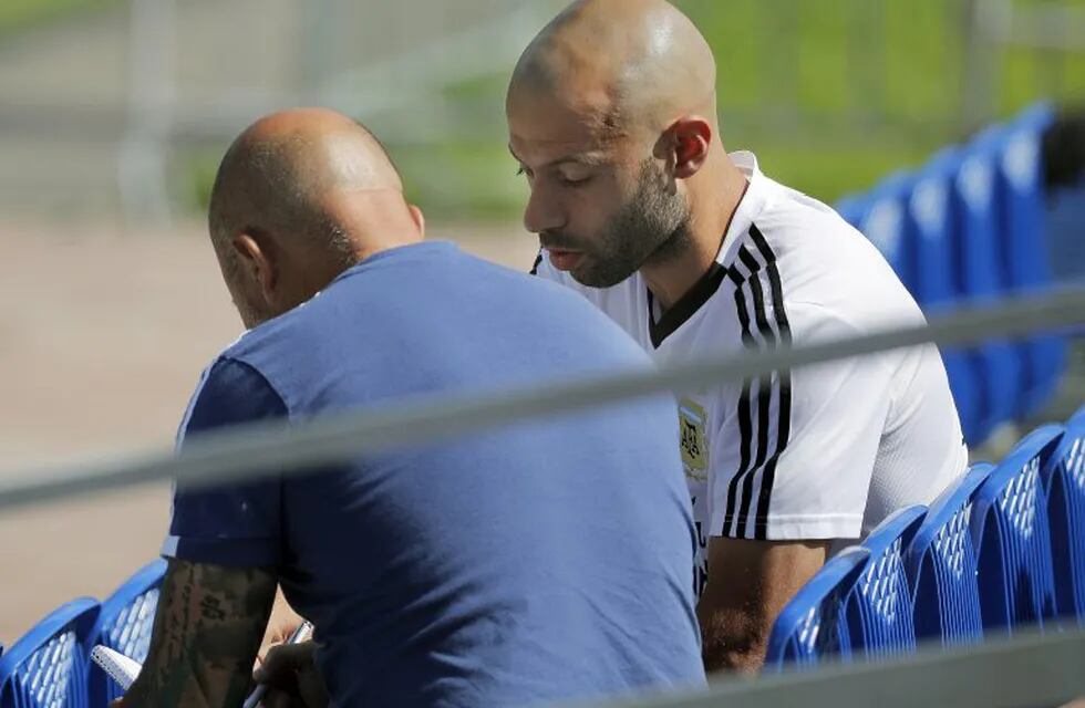
[[[140,569],[99,603],[61,605],[0,654],[0,708],[105,708],[120,689],[90,660],[103,644],[140,662],[151,647],[166,562]]]

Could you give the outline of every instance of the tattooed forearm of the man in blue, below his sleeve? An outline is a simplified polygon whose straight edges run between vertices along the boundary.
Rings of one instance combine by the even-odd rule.
[[[275,600],[269,568],[170,560],[158,596],[151,652],[115,706],[240,706]]]

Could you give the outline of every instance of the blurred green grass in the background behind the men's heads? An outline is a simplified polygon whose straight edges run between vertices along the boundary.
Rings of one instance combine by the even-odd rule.
[[[60,0],[56,0],[60,1]],[[1015,0],[1020,6],[1045,0]],[[1085,0],[1068,0],[1085,8]],[[753,149],[772,177],[825,201],[920,165],[963,139],[961,0],[676,0],[712,45],[721,132]],[[469,131],[440,145],[392,142],[407,194],[435,218],[519,217],[504,127],[510,66],[447,84],[441,101],[472,106]],[[998,70],[998,116],[1040,100],[1085,101],[1085,53],[1013,49]],[[484,129],[479,129],[484,125]],[[380,125],[373,125],[380,133]],[[214,164],[214,157],[210,159]],[[214,174],[194,173],[203,205]]]

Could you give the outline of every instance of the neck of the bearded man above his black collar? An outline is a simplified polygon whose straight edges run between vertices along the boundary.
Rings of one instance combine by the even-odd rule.
[[[727,227],[742,201],[746,176],[726,153],[715,165],[686,180],[690,195],[690,238],[679,251],[645,262],[640,273],[662,310],[674,303],[704,277],[720,253]]]

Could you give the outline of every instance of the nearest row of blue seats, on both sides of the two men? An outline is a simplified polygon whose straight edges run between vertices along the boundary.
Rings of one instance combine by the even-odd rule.
[[[165,569],[147,564],[101,604],[66,603],[0,654],[0,708],[107,706],[117,687],[90,649],[146,658]],[[875,659],[1064,623],[1085,627],[1085,407],[826,563],[777,618],[766,665]]]

